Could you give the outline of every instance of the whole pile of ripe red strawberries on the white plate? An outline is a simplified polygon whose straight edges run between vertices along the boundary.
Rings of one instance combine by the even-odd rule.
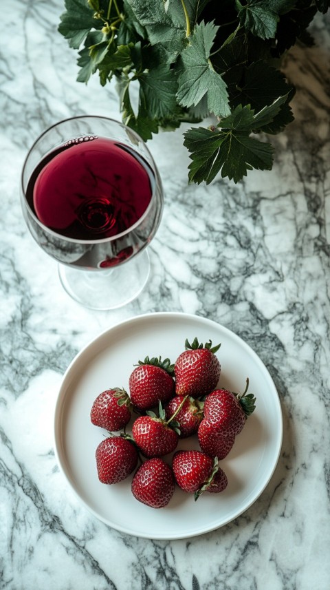
[[[129,376],[129,394],[104,390],[91,407],[91,422],[108,431],[96,449],[100,482],[118,483],[133,474],[133,496],[153,508],[168,505],[175,484],[195,500],[203,492],[223,492],[228,479],[219,461],[255,408],[248,379],[243,394],[219,388],[215,353],[220,345],[212,347],[209,341],[203,346],[195,338],[185,347],[174,365],[161,357],[138,361]],[[131,434],[126,433],[129,423]],[[177,449],[181,439],[194,435],[191,450]],[[169,463],[164,456],[171,453]]]

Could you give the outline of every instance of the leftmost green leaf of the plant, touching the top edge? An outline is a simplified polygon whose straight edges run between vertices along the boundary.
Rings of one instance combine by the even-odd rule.
[[[69,40],[70,47],[79,49],[89,31],[102,28],[102,22],[94,19],[94,10],[89,8],[85,0],[65,0],[65,8],[58,32]]]

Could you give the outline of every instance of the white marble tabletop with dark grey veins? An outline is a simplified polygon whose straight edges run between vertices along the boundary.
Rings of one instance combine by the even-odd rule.
[[[32,240],[19,180],[28,148],[56,120],[119,118],[113,87],[76,82],[56,31],[60,0],[1,10],[0,588],[326,590],[329,526],[330,20],[285,60],[296,120],[274,138],[270,172],[239,185],[188,185],[181,130],[150,143],[166,192],[151,277],[116,311],[78,306]],[[80,505],[54,456],[63,372],[105,328],[151,311],[213,319],[267,366],[283,447],[259,499],[232,523],[185,540],[135,538]],[[195,508],[195,507],[194,507]],[[193,512],[192,512],[193,518]]]

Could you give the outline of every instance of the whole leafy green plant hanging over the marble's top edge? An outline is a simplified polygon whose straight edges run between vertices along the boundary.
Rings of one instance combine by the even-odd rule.
[[[184,133],[189,179],[238,182],[272,169],[272,144],[293,119],[294,87],[275,67],[329,0],[65,0],[59,32],[79,50],[78,81],[98,72],[117,81],[123,122],[144,140],[159,128],[214,125]],[[131,85],[139,84],[133,108]],[[263,136],[261,136],[263,137]]]

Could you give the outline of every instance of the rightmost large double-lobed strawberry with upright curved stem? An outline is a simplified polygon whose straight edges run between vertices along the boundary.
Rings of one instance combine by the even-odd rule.
[[[211,457],[224,459],[232,449],[237,434],[246,419],[254,412],[256,398],[247,394],[249,380],[243,394],[225,389],[212,391],[204,402],[204,418],[198,429],[201,450]]]

